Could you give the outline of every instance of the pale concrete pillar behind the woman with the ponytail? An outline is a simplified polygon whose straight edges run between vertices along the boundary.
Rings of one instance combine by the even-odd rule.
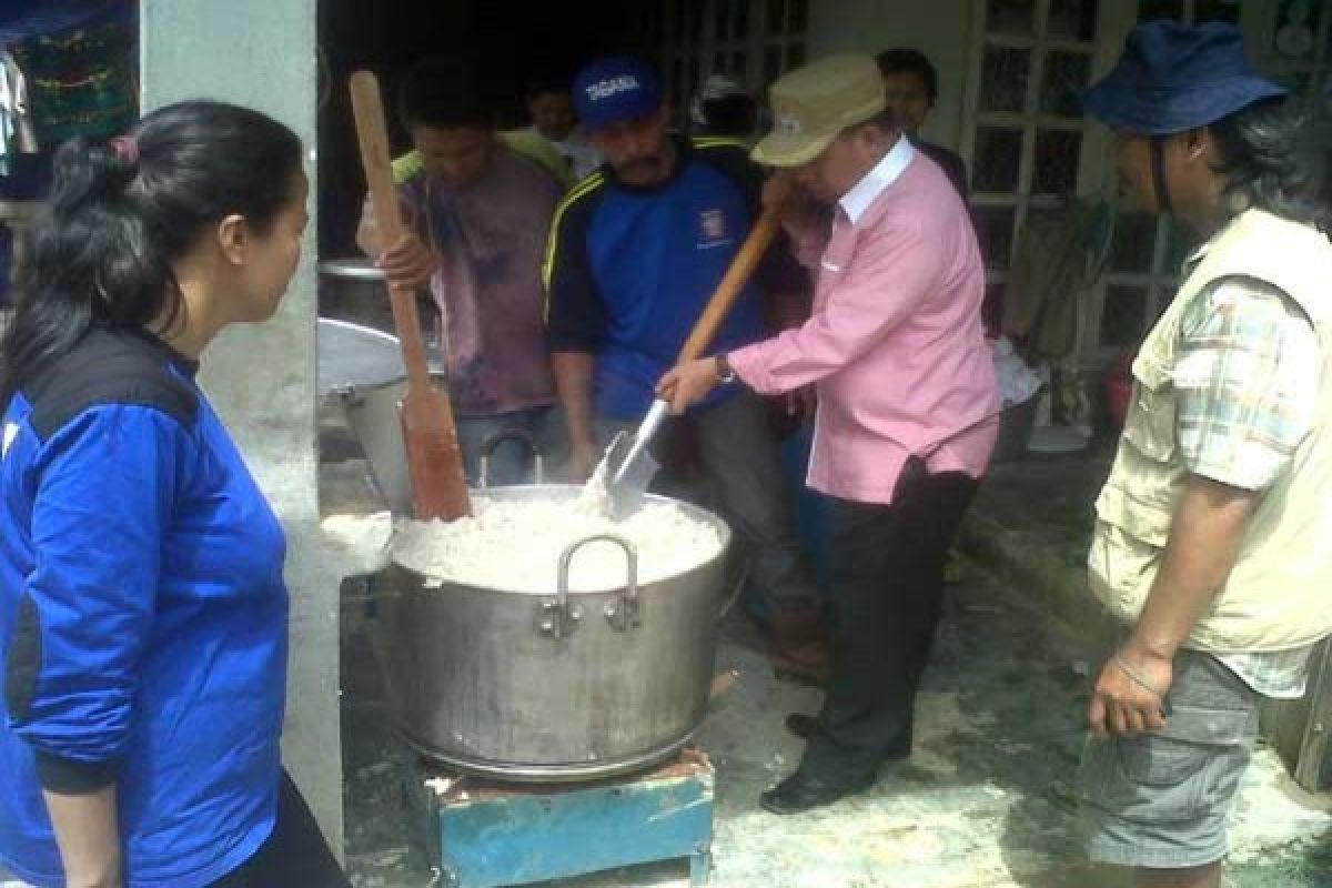
[[[288,531],[292,655],[284,758],[342,845],[338,576],[318,530],[316,449],[316,0],[143,0],[144,111],[220,99],[262,111],[309,149],[312,224],[277,317],[228,330],[201,382]]]

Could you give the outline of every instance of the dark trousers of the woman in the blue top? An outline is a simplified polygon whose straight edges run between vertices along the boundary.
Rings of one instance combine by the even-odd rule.
[[[352,888],[301,791],[282,771],[277,823],[254,856],[213,888]]]

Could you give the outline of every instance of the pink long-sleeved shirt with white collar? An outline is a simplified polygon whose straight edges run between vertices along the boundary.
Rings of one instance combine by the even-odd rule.
[[[943,170],[899,138],[798,250],[818,272],[813,316],[727,357],[765,394],[817,385],[809,485],[891,503],[912,455],[979,478],[999,429],[984,268]]]

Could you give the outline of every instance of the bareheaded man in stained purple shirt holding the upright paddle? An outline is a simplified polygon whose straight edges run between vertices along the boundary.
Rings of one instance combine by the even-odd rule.
[[[546,230],[562,189],[498,138],[486,92],[478,72],[464,63],[425,60],[412,69],[398,113],[416,152],[394,164],[410,230],[398,244],[384,245],[365,212],[357,233],[392,284],[430,288],[473,482],[492,435],[526,433],[557,459],[551,451],[562,450],[563,437],[551,410],[541,282]],[[489,482],[523,481],[526,455],[518,442],[501,443]]]

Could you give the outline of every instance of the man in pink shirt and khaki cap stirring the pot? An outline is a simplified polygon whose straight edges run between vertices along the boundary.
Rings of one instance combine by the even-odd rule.
[[[718,385],[763,394],[814,385],[809,483],[831,498],[832,678],[794,775],[765,792],[795,813],[868,788],[911,752],[912,711],[943,563],[999,425],[980,324],[984,269],[948,177],[886,111],[867,56],[832,56],[771,88],[781,168],[769,202],[818,272],[805,326],[682,365],[661,393],[683,410]]]

